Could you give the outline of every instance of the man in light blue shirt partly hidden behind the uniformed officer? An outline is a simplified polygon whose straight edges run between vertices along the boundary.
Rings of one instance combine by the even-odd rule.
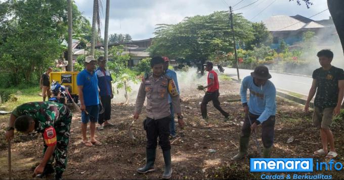
[[[178,80],[177,80],[177,73],[174,70],[168,69],[168,64],[169,64],[168,57],[162,57],[162,59],[165,61],[164,65],[163,65],[163,68],[164,68],[164,71],[165,71],[165,75],[173,79],[173,81],[176,84],[178,94],[180,94],[179,86],[178,86]],[[180,101],[182,102],[181,99],[180,99]],[[169,123],[169,132],[170,132],[170,136],[172,138],[175,138],[176,137],[175,114],[174,114],[172,100],[171,100],[171,96],[170,95],[168,95],[168,103],[169,103],[170,112],[171,112],[171,116],[170,116],[171,120],[170,120],[170,123]],[[183,120],[178,120],[178,121],[179,121],[179,123],[183,123],[182,126],[184,126],[184,122],[180,122],[180,121],[183,121]]]

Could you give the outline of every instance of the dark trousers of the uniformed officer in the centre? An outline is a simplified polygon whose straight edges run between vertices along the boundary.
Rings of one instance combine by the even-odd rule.
[[[170,116],[162,119],[148,118],[143,122],[143,126],[147,133],[147,146],[148,149],[156,149],[157,137],[159,136],[159,145],[162,151],[171,149],[169,142],[169,122]]]

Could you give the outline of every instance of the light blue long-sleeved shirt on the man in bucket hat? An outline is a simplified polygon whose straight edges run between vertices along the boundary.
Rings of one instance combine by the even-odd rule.
[[[247,89],[249,89],[249,101],[247,102]],[[241,102],[248,104],[251,114],[260,116],[257,120],[263,123],[270,116],[276,114],[276,88],[271,81],[264,86],[256,86],[253,78],[247,76],[242,80],[240,88]]]

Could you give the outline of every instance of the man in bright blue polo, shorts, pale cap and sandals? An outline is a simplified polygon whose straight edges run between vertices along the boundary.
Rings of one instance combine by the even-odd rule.
[[[95,73],[97,61],[93,56],[85,58],[85,69],[76,77],[76,84],[79,91],[80,109],[81,109],[81,133],[82,142],[85,146],[100,146],[95,138],[96,122],[99,114],[99,88],[98,79]],[[91,139],[86,136],[87,124],[90,121]]]

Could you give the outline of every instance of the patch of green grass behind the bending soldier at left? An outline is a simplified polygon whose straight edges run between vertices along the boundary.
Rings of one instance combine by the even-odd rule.
[[[11,87],[0,89],[0,95],[2,97],[3,103],[0,108],[3,111],[12,111],[16,106],[32,101],[41,101],[42,97],[38,94],[40,93],[39,87]],[[16,97],[16,98],[11,98]]]

